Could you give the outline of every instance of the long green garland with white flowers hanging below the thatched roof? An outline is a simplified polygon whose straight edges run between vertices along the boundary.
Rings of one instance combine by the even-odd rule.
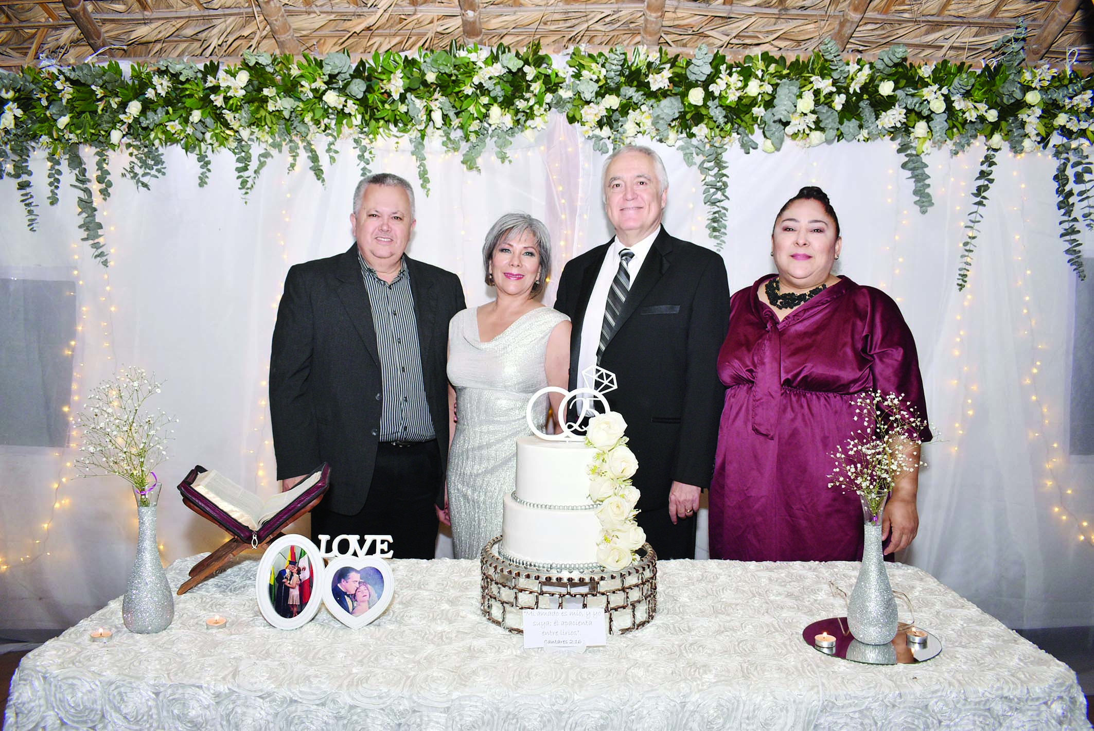
[[[126,149],[130,162],[123,176],[147,188],[165,172],[167,146],[197,155],[200,185],[208,181],[210,153],[229,150],[246,195],[271,150],[287,150],[292,167],[303,154],[322,182],[323,158],[334,163],[337,139],[353,140],[368,171],[379,140],[401,138],[428,193],[427,140],[440,140],[462,153],[468,170],[478,170],[488,144],[504,161],[516,135],[534,138],[557,112],[601,151],[643,138],[678,148],[702,175],[707,228],[720,246],[729,210],[724,153],[734,144],[776,152],[787,140],[811,147],[892,139],[926,211],[933,201],[923,152],[948,148],[956,154],[982,139],[982,185],[968,213],[958,286],[967,283],[994,153],[1004,144],[1014,153],[1051,147],[1060,237],[1069,264],[1084,277],[1079,235],[1081,228],[1094,230],[1094,176],[1083,149],[1094,141],[1094,79],[1047,65],[1023,68],[1025,34],[1020,25],[1000,40],[999,56],[979,71],[950,61],[915,66],[899,45],[873,62],[845,60],[830,40],[806,58],[763,53],[741,62],[705,47],[694,58],[664,49],[574,49],[562,69],[536,45],[374,54],[357,62],[345,53],[299,59],[246,53],[241,65],[24,67],[0,73],[0,177],[15,181],[34,230],[31,153],[46,153],[51,205],[63,162],[80,193],[83,239],[106,265],[92,189],[109,197],[112,151]],[[92,148],[94,179],[81,146]]]

